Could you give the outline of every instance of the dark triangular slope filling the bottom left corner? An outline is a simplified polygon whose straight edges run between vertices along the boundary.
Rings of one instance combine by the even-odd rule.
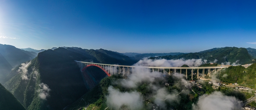
[[[26,110],[11,92],[0,83],[0,109],[1,110]]]

